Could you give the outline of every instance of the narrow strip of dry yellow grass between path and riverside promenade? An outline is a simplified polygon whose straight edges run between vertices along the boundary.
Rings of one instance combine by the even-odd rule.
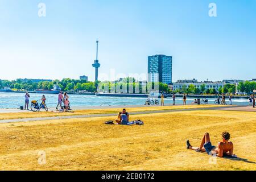
[[[177,109],[200,109],[216,107],[216,105],[187,105],[187,106],[149,106],[149,107],[131,107],[128,108],[129,112],[137,111],[154,111],[154,110],[177,110]],[[0,113],[0,120],[2,119],[21,119],[21,118],[36,118],[36,117],[55,117],[63,115],[84,115],[84,114],[111,114],[118,113],[123,108],[112,108],[112,109],[86,109],[76,110],[74,113],[54,113],[54,112],[22,112],[22,113]]]

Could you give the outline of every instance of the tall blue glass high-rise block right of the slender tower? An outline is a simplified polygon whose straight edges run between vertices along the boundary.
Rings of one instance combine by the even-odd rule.
[[[148,81],[172,83],[172,56],[148,56]]]

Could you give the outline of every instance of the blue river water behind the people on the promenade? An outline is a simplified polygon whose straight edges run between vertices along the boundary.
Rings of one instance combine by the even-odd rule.
[[[57,94],[44,94],[46,96],[46,104],[49,108],[53,109],[57,105]],[[32,100],[40,100],[42,94],[31,93]],[[188,98],[187,104],[191,104],[195,98]],[[0,109],[15,109],[24,105],[24,93],[0,93]],[[209,104],[214,104],[215,98],[208,98]],[[146,98],[136,97],[100,97],[89,95],[69,95],[69,101],[71,107],[88,107],[88,106],[100,106],[102,104],[111,106],[123,106],[123,105],[143,105]],[[234,105],[249,105],[249,101],[245,98],[234,98],[232,100]],[[172,98],[165,98],[165,104],[172,104]],[[176,98],[176,104],[182,104],[182,98]],[[229,104],[229,100],[226,100]]]

